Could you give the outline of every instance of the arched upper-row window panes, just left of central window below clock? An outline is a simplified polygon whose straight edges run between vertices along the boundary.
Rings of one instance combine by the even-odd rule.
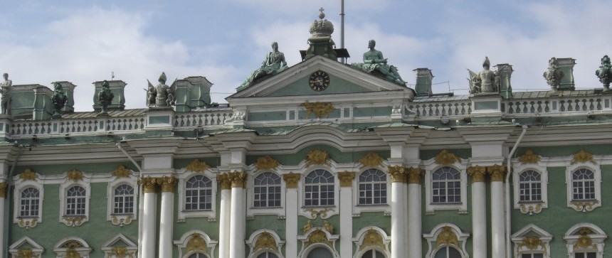
[[[266,172],[255,178],[253,207],[280,207],[280,176]]]

